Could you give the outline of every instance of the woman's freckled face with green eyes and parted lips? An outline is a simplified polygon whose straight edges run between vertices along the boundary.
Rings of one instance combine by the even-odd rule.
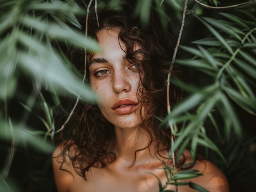
[[[116,127],[139,126],[139,111],[135,114],[139,106],[139,72],[126,60],[125,46],[121,41],[119,44],[117,30],[102,29],[97,38],[103,52],[94,54],[90,60],[89,75],[92,89],[101,97],[99,109]]]

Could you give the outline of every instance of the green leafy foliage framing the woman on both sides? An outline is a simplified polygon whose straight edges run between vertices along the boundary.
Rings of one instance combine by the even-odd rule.
[[[98,0],[97,6],[119,10],[120,2]],[[177,38],[184,2],[139,0],[135,1],[134,14],[146,25],[154,9],[163,28]],[[212,7],[222,6],[217,0],[199,2]],[[229,1],[223,6],[236,3],[241,2]],[[174,106],[162,121],[163,127],[166,124],[174,127],[177,138],[170,149],[170,157],[176,152],[178,160],[189,148],[194,158],[198,148],[202,149],[225,172],[232,191],[239,189],[236,189],[237,183],[248,190],[254,189],[255,185],[256,137],[246,132],[243,119],[239,118],[242,113],[252,118],[256,114],[256,16],[253,3],[211,11],[189,0],[182,45],[175,63],[187,66],[191,76],[198,80],[186,84],[171,79],[171,84],[182,88],[188,97]],[[13,182],[7,182],[7,178],[17,163],[13,162],[14,154],[21,146],[52,152],[49,140],[56,132],[53,108],[61,108],[59,96],[79,97],[85,102],[96,97],[88,84],[83,83],[83,74],[79,74],[63,52],[63,47],[101,51],[95,40],[84,35],[76,19],[75,15],[85,17],[85,5],[84,1],[78,5],[74,0],[0,0],[0,140],[4,142],[2,148],[6,157],[0,174],[1,191],[16,191]],[[191,29],[194,30],[192,33]],[[20,113],[16,111],[13,115],[10,112],[13,110]],[[66,115],[70,113],[61,110]],[[178,125],[182,125],[179,130]],[[251,126],[255,128],[255,124]],[[46,162],[49,167],[50,161]],[[39,178],[38,188],[40,181],[47,183],[43,182],[44,175],[51,174],[46,171],[47,166],[44,171],[34,173]],[[160,191],[170,184],[189,185],[205,191],[195,183],[176,182],[177,179],[199,177],[196,170],[173,172],[175,168],[165,164],[163,169],[168,182],[164,186],[159,182]],[[36,190],[37,185],[29,186],[31,191]]]

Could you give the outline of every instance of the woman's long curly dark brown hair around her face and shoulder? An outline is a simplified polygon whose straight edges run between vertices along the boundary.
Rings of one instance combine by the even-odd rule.
[[[104,8],[98,11],[99,26],[95,13],[91,13],[88,22],[88,35],[97,40],[97,32],[102,29],[118,29],[119,42],[125,44],[127,60],[136,65],[139,70],[140,82],[137,90],[141,111],[143,106],[147,109],[147,121],[141,115],[143,128],[151,138],[156,141],[155,152],[169,150],[171,147],[171,132],[159,126],[160,119],[167,115],[166,106],[166,80],[171,66],[175,40],[170,33],[163,30],[158,15],[151,12],[150,22],[145,25],[139,18],[132,15],[132,8],[124,6],[121,11],[113,11]],[[135,49],[139,47],[139,49]],[[79,71],[84,71],[84,55],[75,56],[73,61]],[[87,63],[90,62],[93,53],[88,52]],[[143,58],[141,60],[141,57]],[[89,73],[87,65],[87,80]],[[186,69],[174,65],[172,78],[184,79]],[[175,86],[170,87],[170,103],[176,104],[182,98],[182,90]],[[142,114],[142,113],[140,113]],[[148,128],[150,125],[150,129]],[[115,153],[109,150],[109,146],[115,140],[115,130],[101,113],[99,107],[92,103],[80,103],[69,122],[69,125],[61,132],[63,142],[61,144],[63,161],[68,156],[72,161],[74,170],[86,179],[86,173],[91,167],[103,168],[106,162],[115,161]],[[154,139],[153,139],[154,138]],[[145,150],[142,148],[140,150]],[[136,152],[135,159],[136,160]],[[133,163],[134,163],[133,162]],[[132,165],[131,165],[132,166]]]

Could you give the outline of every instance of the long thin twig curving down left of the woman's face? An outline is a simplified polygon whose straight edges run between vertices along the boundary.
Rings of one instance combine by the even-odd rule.
[[[90,7],[91,7],[91,4],[92,4],[92,1],[93,0],[90,0],[89,4],[87,6],[86,20],[85,20],[85,38],[87,38],[87,33],[88,33],[88,17],[89,17],[89,11],[90,11]],[[86,77],[86,60],[87,60],[87,51],[86,51],[86,48],[85,48],[85,69],[84,69],[84,75],[83,75],[82,84],[84,84],[85,77]],[[68,121],[70,120],[70,118],[72,117],[72,115],[74,113],[74,110],[76,109],[76,106],[77,106],[77,104],[79,102],[80,96],[81,96],[81,93],[79,93],[78,97],[76,98],[76,103],[75,103],[74,107],[72,108],[72,110],[70,112],[70,115],[67,117],[67,120],[61,126],[61,128],[59,130],[57,130],[55,133],[58,133],[58,132],[60,132],[61,130],[64,129],[65,125],[68,123]]]

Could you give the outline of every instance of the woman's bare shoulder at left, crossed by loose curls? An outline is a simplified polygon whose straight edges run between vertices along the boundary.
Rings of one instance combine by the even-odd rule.
[[[52,166],[58,192],[68,192],[74,182],[74,169],[68,157],[63,161],[63,143],[52,154]]]

